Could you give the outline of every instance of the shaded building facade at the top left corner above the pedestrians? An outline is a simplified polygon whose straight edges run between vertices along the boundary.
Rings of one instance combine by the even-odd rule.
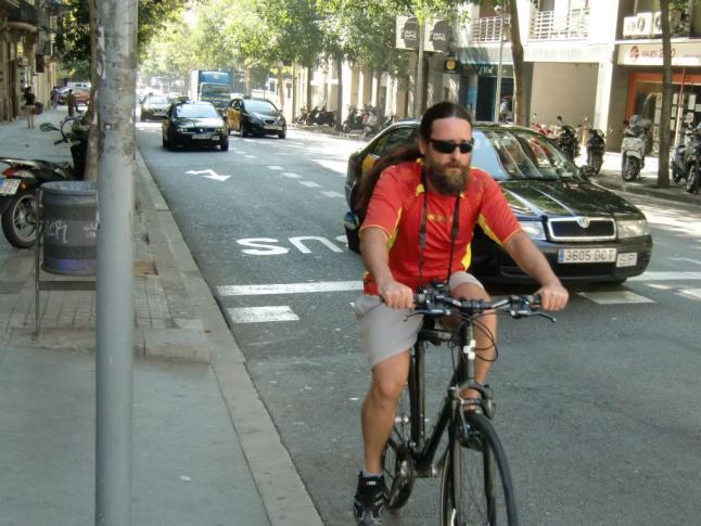
[[[50,102],[56,86],[59,2],[0,0],[0,120],[21,115],[22,90],[31,86],[37,100]]]

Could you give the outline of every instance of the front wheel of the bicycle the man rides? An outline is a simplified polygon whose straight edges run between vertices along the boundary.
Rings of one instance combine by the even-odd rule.
[[[501,441],[484,414],[459,419],[441,478],[443,526],[517,526],[511,472]]]

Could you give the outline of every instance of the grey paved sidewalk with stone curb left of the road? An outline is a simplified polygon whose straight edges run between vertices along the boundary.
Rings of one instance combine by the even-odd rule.
[[[38,128],[64,116],[0,124],[0,156],[69,161]],[[138,154],[135,179],[132,523],[320,525]],[[94,293],[42,292],[35,338],[34,267],[1,236],[0,525],[94,524]]]

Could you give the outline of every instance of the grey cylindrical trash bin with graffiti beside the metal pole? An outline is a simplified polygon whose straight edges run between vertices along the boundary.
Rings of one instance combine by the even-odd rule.
[[[88,181],[41,185],[43,262],[47,272],[94,275],[98,188]]]

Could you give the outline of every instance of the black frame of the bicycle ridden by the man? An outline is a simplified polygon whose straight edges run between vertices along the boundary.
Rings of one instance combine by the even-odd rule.
[[[443,437],[446,426],[451,423],[457,413],[458,406],[466,403],[460,398],[464,388],[473,388],[485,395],[484,387],[474,380],[475,375],[475,351],[472,323],[463,323],[458,330],[458,347],[460,356],[456,365],[448,393],[438,412],[436,423],[426,439],[425,435],[425,377],[424,358],[425,344],[445,343],[453,338],[449,330],[435,329],[424,320],[424,325],[419,331],[419,339],[413,347],[413,356],[409,367],[409,396],[411,398],[411,453],[415,462],[416,475],[419,477],[431,477],[437,475],[437,466],[433,464],[436,450]],[[463,380],[464,379],[464,380]],[[469,401],[475,405],[479,401]],[[455,429],[455,426],[450,426]],[[453,432],[451,432],[453,433]],[[451,437],[453,438],[453,437]]]

